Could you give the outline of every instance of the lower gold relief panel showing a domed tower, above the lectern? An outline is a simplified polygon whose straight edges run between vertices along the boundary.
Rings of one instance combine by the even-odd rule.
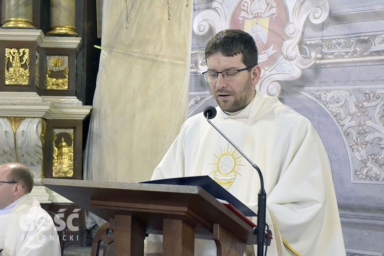
[[[54,131],[52,176],[73,177],[73,131]]]

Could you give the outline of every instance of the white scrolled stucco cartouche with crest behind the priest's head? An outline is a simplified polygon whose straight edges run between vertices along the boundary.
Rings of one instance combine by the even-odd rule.
[[[306,19],[319,24],[328,13],[326,0],[215,0],[210,9],[195,17],[193,29],[198,35],[207,33],[210,27],[214,33],[238,28],[253,35],[262,67],[257,88],[264,94],[278,97],[280,80],[299,78],[302,69],[315,61],[315,52],[303,57],[298,51]],[[196,51],[192,55],[195,71],[205,71],[204,53]]]

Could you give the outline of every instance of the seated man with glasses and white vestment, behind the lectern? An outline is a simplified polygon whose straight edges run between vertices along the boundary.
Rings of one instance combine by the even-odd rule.
[[[0,165],[0,255],[60,255],[60,243],[49,214],[29,193],[29,169],[20,163]]]

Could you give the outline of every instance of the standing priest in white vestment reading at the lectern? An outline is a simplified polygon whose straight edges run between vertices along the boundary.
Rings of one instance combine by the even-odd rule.
[[[241,30],[221,31],[208,41],[205,55],[203,74],[219,104],[211,121],[263,174],[273,236],[267,255],[345,255],[324,145],[307,118],[255,92],[261,70],[253,38]],[[203,114],[185,121],[152,179],[200,175],[257,212],[258,173]],[[158,252],[161,238],[150,236],[147,253]],[[195,255],[216,255],[215,242],[195,240]]]

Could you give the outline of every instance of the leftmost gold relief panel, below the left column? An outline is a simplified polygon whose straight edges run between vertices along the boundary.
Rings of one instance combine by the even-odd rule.
[[[29,49],[5,49],[5,84],[28,85]]]

